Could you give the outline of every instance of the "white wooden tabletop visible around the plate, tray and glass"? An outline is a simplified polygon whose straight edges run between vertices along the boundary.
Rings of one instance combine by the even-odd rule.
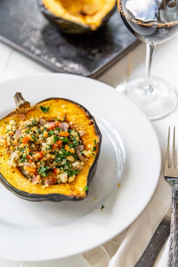
[[[178,35],[171,40],[156,47],[155,56],[152,62],[151,74],[159,76],[171,82],[178,90],[177,82],[177,55]],[[127,76],[128,62],[131,68],[131,76],[144,75],[146,46],[139,44],[129,54],[115,63],[110,69],[103,73],[98,80],[115,87],[120,80]],[[26,56],[0,43],[0,81],[9,80],[36,73],[49,73],[50,71],[38,63],[35,63]],[[160,146],[166,142],[168,126],[178,124],[178,108],[169,116],[160,120],[152,121],[152,125],[159,138]],[[1,267],[87,267],[88,263],[82,255],[51,260],[46,262],[11,262],[0,260]]]

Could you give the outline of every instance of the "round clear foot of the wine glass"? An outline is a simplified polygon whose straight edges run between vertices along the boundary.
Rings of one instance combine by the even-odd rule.
[[[141,90],[144,78],[138,77],[121,82],[116,90],[128,96],[149,120],[156,120],[170,114],[177,106],[177,93],[172,85],[156,77],[150,78],[152,90]]]

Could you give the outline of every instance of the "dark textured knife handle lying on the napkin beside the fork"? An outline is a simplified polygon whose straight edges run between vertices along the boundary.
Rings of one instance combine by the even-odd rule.
[[[160,222],[152,239],[150,240],[150,243],[148,244],[139,261],[136,263],[135,267],[152,267],[154,265],[160,250],[169,236],[170,225],[171,222],[166,220]]]

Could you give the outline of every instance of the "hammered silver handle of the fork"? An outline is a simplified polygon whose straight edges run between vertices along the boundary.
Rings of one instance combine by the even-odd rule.
[[[172,185],[172,211],[167,267],[178,266],[178,185]]]

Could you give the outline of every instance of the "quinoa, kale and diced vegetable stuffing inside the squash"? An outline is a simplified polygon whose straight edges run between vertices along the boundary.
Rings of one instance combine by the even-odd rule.
[[[0,137],[4,153],[10,153],[8,164],[17,167],[32,185],[71,183],[93,154],[93,146],[84,150],[80,136],[71,125],[58,118],[46,121],[38,117],[11,120]]]

